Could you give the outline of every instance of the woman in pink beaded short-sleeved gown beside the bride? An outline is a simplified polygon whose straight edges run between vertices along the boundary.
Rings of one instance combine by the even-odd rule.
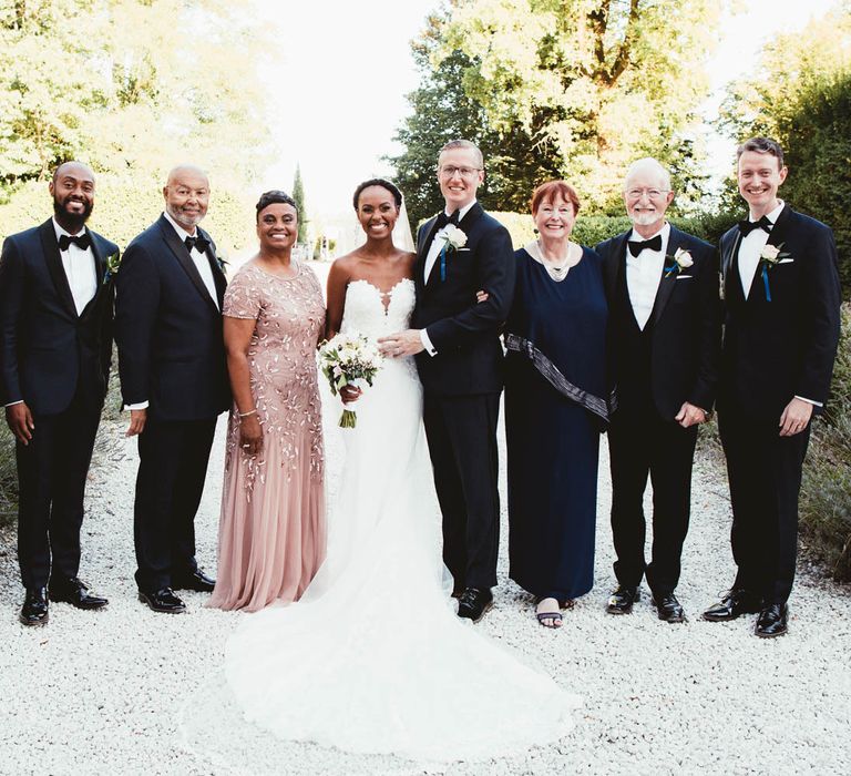
[[[223,310],[234,407],[208,604],[248,612],[300,598],[326,548],[316,368],[325,305],[312,270],[291,259],[298,212],[284,192],[260,196],[257,236]]]

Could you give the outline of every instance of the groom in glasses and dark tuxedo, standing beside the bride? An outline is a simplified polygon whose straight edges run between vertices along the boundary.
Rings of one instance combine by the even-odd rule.
[[[417,235],[413,328],[380,343],[385,355],[417,355],[443,561],[459,616],[478,621],[496,584],[500,329],[514,292],[514,254],[505,227],[475,200],[484,161],[473,143],[455,140],[441,149],[438,181],[445,208]],[[488,299],[476,304],[480,289]]]

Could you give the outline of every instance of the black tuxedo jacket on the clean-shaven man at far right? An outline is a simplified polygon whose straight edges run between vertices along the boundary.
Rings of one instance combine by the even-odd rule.
[[[821,222],[780,212],[768,244],[791,261],[768,270],[768,300],[761,266],[748,298],[741,289],[734,226],[721,237],[725,331],[719,410],[737,407],[779,421],[794,396],[824,402],[839,343],[841,290],[833,233]],[[818,408],[817,408],[818,409]]]

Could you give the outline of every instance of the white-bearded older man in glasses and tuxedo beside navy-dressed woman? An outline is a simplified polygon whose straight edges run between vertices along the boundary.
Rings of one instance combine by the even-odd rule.
[[[715,401],[721,331],[717,253],[665,219],[673,200],[667,170],[654,159],[635,162],[624,184],[634,226],[596,249],[604,262],[617,391],[608,442],[618,586],[607,611],[629,613],[646,574],[659,619],[683,622],[674,591],[688,531],[697,427]],[[649,565],[643,508],[648,476]]]

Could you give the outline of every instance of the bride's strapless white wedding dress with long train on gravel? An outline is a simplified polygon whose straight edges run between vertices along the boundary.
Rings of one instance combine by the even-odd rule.
[[[406,328],[411,280],[349,285],[342,330]],[[578,698],[455,615],[413,359],[388,359],[353,405],[328,559],[304,598],[243,619],[225,655],[244,718],[277,738],[423,762],[560,738]],[[339,415],[340,405],[331,410]]]

